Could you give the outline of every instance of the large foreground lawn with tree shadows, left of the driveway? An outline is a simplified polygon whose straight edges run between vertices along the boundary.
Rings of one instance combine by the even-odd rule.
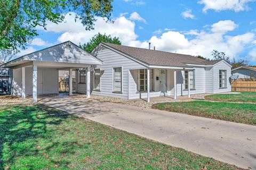
[[[238,169],[44,105],[0,107],[0,169]]]

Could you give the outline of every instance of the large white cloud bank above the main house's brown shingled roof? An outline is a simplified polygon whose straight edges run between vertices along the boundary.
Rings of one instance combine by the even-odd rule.
[[[221,28],[222,25],[222,29]],[[253,44],[255,34],[247,32],[237,36],[227,36],[228,31],[234,30],[238,25],[233,21],[219,21],[212,24],[211,30],[189,30],[183,33],[178,31],[164,32],[160,37],[153,36],[149,40],[131,41],[129,45],[135,47],[147,48],[148,42],[156,46],[158,50],[175,52],[189,55],[202,55],[211,58],[212,50],[216,49],[225,52],[231,57],[243,52],[245,46]],[[186,35],[194,35],[194,38],[188,39]],[[256,50],[255,50],[256,52]]]

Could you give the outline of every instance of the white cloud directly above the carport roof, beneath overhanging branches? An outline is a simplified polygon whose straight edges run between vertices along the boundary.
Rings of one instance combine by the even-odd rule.
[[[74,21],[74,13],[71,14],[72,15],[66,15],[66,22],[59,24],[47,22],[47,31],[62,33],[58,37],[60,42],[70,40],[75,44],[87,43],[90,38],[98,32],[106,33],[113,37],[119,37],[122,44],[128,44],[138,37],[134,32],[135,23],[125,18],[125,16],[120,16],[119,18],[114,19],[114,23],[106,23],[103,18],[97,17],[97,21],[94,23],[94,30],[86,31],[79,20],[77,22]],[[43,30],[43,28],[39,29]]]

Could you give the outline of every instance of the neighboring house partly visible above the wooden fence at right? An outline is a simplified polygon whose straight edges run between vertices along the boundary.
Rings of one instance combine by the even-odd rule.
[[[231,70],[233,75],[238,75],[238,79],[256,78],[256,67],[241,66]]]

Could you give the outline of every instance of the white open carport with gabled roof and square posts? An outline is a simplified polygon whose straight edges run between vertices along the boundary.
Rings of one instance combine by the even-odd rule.
[[[90,71],[93,65],[102,64],[98,58],[85,52],[71,41],[49,48],[38,50],[10,62],[1,67],[9,68],[10,92],[14,96],[25,98],[33,95],[37,102],[37,94],[58,94],[59,70],[69,70],[69,95],[72,95],[72,72],[76,71],[76,78],[86,79],[83,83],[76,83],[82,88],[87,98],[90,98]],[[83,74],[84,77],[80,75]]]

